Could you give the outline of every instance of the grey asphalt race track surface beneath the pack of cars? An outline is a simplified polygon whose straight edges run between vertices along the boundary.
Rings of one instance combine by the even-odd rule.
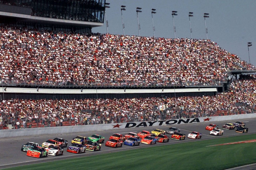
[[[248,133],[240,134],[236,133],[235,130],[224,130],[223,136],[212,136],[209,135],[210,131],[205,130],[205,127],[209,125],[210,123],[219,125],[220,129],[222,125],[226,123],[232,123],[236,121],[242,121],[246,123],[246,127],[249,128]],[[185,140],[172,140],[170,139],[168,143],[158,143],[156,145],[146,145],[141,143],[140,146],[126,146],[123,145],[121,148],[110,148],[105,146],[105,142],[108,140],[108,138],[113,133],[121,133],[123,135],[126,135],[129,132],[136,132],[139,133],[142,130],[152,131],[156,128],[167,130],[169,127],[167,126],[157,126],[157,127],[140,127],[140,128],[130,128],[130,129],[118,129],[115,128],[113,130],[104,130],[104,131],[94,131],[94,132],[84,132],[84,133],[68,133],[68,134],[55,134],[55,135],[38,135],[38,136],[23,136],[23,137],[12,137],[12,138],[0,138],[0,169],[3,168],[9,168],[9,167],[15,167],[15,166],[21,166],[21,165],[28,165],[28,164],[35,164],[35,163],[42,163],[42,162],[49,162],[52,160],[62,160],[62,159],[69,159],[69,158],[76,158],[80,156],[90,156],[94,154],[101,154],[101,153],[108,153],[108,152],[118,152],[128,149],[135,149],[135,148],[144,148],[144,147],[152,147],[152,146],[159,146],[159,145],[171,145],[178,142],[193,142],[197,140],[205,140],[205,139],[211,139],[211,138],[221,138],[221,137],[227,137],[227,136],[235,136],[235,135],[246,135],[246,134],[252,134],[256,133],[256,118],[252,119],[241,119],[241,120],[232,120],[232,121],[219,121],[219,122],[202,122],[202,123],[191,123],[191,124],[179,124],[179,125],[173,125],[173,127],[177,127],[180,129],[181,133],[189,134],[192,131],[196,131],[199,133],[202,133],[202,139],[189,139],[186,136]],[[100,151],[86,151],[86,153],[80,153],[80,154],[74,154],[67,152],[67,148],[64,148],[63,155],[60,156],[51,156],[48,155],[46,158],[33,158],[26,156],[26,152],[22,152],[20,149],[22,145],[25,143],[31,141],[31,142],[37,142],[39,145],[41,145],[43,142],[45,142],[48,139],[54,139],[56,137],[63,138],[68,140],[68,146],[71,144],[72,138],[76,136],[86,136],[89,137],[93,134],[99,134],[105,137],[104,143],[101,145]],[[171,136],[170,134],[166,134],[167,136]],[[246,167],[243,167],[246,168]]]

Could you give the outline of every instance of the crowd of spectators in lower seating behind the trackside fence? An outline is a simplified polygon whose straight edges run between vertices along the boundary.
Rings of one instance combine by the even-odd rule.
[[[225,110],[229,115],[252,113],[255,111],[256,101],[255,77],[248,75],[240,80],[231,80],[230,91],[216,96],[84,100],[11,99],[0,103],[0,123],[4,123],[3,115],[7,115],[5,121],[12,120],[14,126],[17,121],[24,126],[31,122],[37,125],[54,123],[62,126],[62,122],[86,125],[215,116],[218,110]],[[166,105],[168,109],[159,111],[159,105]]]

